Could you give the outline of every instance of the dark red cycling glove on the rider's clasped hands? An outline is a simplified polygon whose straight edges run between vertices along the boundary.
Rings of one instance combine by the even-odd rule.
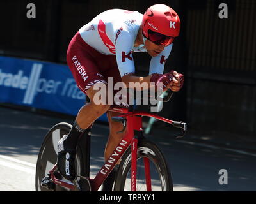
[[[161,89],[162,91],[166,91],[168,89],[168,86],[170,84],[173,84],[172,80],[173,80],[173,74],[172,73],[166,73],[166,74],[152,74],[151,78],[150,78],[150,82],[154,82],[155,86],[156,86],[156,91],[157,91],[157,86],[160,83],[163,83],[163,89]]]

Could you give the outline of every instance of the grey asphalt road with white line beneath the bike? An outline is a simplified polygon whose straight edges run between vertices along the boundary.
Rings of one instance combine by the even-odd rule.
[[[35,166],[45,133],[72,120],[0,107],[0,191],[35,191]],[[92,129],[92,175],[104,162],[108,126]],[[256,156],[214,146],[149,136],[159,145],[172,170],[175,191],[256,191]],[[221,169],[227,184],[220,184]]]

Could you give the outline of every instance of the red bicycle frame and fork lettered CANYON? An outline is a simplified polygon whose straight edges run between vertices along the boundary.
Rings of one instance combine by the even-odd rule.
[[[109,173],[113,168],[115,167],[118,160],[122,157],[125,150],[131,145],[131,190],[136,191],[136,167],[137,167],[137,144],[138,144],[138,138],[136,137],[136,134],[134,134],[134,131],[143,131],[142,126],[142,116],[148,116],[148,117],[154,117],[158,120],[161,120],[163,122],[167,122],[169,124],[173,124],[174,126],[177,126],[180,128],[181,124],[184,124],[182,122],[175,122],[173,120],[164,119],[163,117],[160,117],[156,114],[151,114],[147,112],[129,112],[127,108],[109,108],[109,111],[112,112],[118,112],[118,113],[124,113],[123,115],[119,115],[118,118],[124,119],[126,122],[126,133],[124,138],[120,141],[120,143],[116,146],[115,150],[113,150],[111,156],[109,156],[108,160],[100,171],[97,173],[94,179],[90,179],[90,185],[92,191],[98,191],[101,184],[104,182],[106,177],[108,177]],[[134,136],[135,135],[135,136]],[[147,185],[147,191],[151,191],[151,177],[150,177],[150,165],[149,165],[149,159],[144,158],[144,165],[145,165],[145,178],[146,178],[146,185]],[[75,186],[71,182],[65,182],[63,180],[56,179],[54,175],[54,171],[57,168],[57,164],[54,165],[52,170],[49,172],[51,175],[51,179],[54,183],[67,187],[69,189],[74,189]]]

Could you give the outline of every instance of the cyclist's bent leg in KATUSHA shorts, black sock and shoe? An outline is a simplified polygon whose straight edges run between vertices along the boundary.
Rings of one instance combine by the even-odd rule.
[[[97,92],[93,90],[95,84],[106,85],[107,82],[100,74],[92,55],[98,58],[101,57],[92,47],[84,44],[81,36],[77,33],[68,47],[67,64],[77,86],[84,94],[87,94],[91,102],[79,110],[74,126],[72,126],[68,135],[63,136],[58,142],[58,170],[68,180],[74,180],[75,177],[74,156],[79,136],[109,108],[109,105],[97,105],[93,101]]]

